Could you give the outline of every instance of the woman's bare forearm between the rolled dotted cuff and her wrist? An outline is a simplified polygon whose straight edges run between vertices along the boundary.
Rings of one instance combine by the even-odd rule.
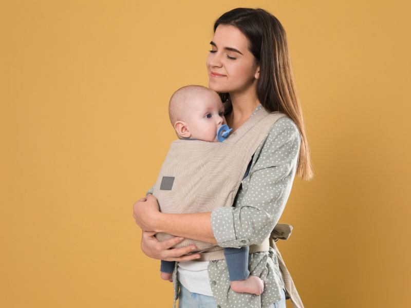
[[[192,214],[160,213],[154,229],[156,232],[217,244],[211,227],[211,212]]]

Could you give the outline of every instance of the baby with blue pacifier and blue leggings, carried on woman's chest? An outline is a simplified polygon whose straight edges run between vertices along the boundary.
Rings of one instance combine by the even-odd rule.
[[[223,141],[230,131],[226,130],[223,138],[218,138],[219,128],[227,125],[224,106],[215,91],[203,86],[189,85],[174,92],[169,103],[169,116],[177,137],[182,140],[219,142]],[[263,293],[263,280],[250,275],[248,270],[249,247],[223,248],[223,250],[232,290],[256,295]],[[174,263],[161,260],[162,279],[173,281]]]

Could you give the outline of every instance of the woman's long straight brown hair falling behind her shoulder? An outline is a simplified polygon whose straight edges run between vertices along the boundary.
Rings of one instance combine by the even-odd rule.
[[[282,24],[263,9],[236,8],[217,19],[214,32],[218,25],[235,26],[248,38],[249,49],[260,65],[258,100],[268,112],[279,111],[287,114],[300,130],[302,140],[296,175],[303,180],[311,180],[314,172],[304,128],[303,110],[295,88],[287,35]],[[230,100],[229,93],[220,93],[220,97],[223,102]]]

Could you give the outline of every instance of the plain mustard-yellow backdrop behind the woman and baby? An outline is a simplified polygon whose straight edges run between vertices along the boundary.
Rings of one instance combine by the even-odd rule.
[[[235,7],[288,35],[315,178],[295,179],[278,247],[303,302],[409,306],[404,4],[2,1],[0,306],[171,307],[132,205],[176,138],[170,95],[208,85],[213,23]]]

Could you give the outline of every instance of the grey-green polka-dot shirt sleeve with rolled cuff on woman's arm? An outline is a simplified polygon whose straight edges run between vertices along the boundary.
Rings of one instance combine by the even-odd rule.
[[[246,188],[232,207],[211,213],[214,237],[221,247],[261,244],[281,217],[291,192],[301,134],[289,118],[277,120],[249,173]],[[258,149],[256,153],[258,152]]]

